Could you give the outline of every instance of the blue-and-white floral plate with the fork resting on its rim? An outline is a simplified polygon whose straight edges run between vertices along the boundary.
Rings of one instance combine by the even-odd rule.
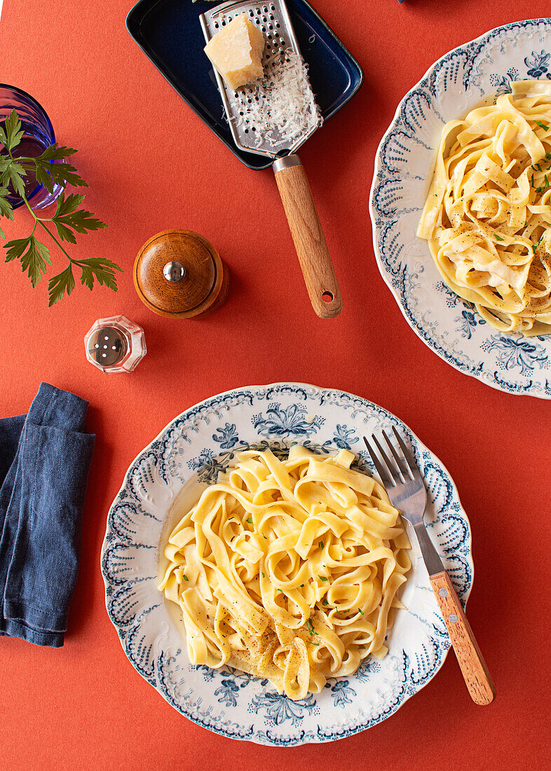
[[[357,467],[373,473],[361,438],[391,426],[405,434],[425,476],[428,532],[465,603],[471,531],[449,473],[398,418],[358,396],[299,383],[229,391],[183,412],[132,463],[109,510],[102,548],[107,611],[130,662],[182,715],[231,739],[329,742],[388,718],[438,672],[449,638],[416,545],[401,597],[407,610],[397,614],[386,658],[330,678],[320,694],[297,702],[244,672],[191,665],[157,589],[163,529],[184,486],[197,491],[215,482],[250,446],[287,453],[293,443],[319,453],[351,449]]]

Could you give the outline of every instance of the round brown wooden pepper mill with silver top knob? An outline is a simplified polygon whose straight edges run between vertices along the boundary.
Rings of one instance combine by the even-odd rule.
[[[227,298],[229,276],[217,250],[193,231],[162,231],[143,244],[134,262],[134,286],[154,313],[201,318]]]

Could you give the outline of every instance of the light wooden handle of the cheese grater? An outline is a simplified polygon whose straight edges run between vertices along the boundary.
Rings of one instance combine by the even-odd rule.
[[[301,160],[287,155],[274,173],[312,308],[320,318],[338,316],[341,290]]]

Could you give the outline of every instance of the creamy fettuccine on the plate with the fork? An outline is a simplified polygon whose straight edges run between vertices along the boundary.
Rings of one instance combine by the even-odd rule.
[[[387,653],[409,542],[354,455],[250,450],[173,529],[160,589],[190,662],[267,678],[291,699]]]

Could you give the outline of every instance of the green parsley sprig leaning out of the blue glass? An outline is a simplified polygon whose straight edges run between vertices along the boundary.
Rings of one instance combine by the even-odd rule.
[[[0,217],[14,219],[12,204],[8,200],[13,194],[22,198],[34,219],[32,232],[26,238],[14,238],[4,244],[6,250],[5,262],[19,260],[22,271],[27,273],[33,288],[46,273],[47,266],[52,265],[50,250],[37,237],[37,229],[41,227],[57,244],[69,260],[69,265],[61,273],[50,278],[48,283],[49,305],[55,305],[63,295],[70,295],[75,288],[73,268],[80,270],[80,283],[92,289],[97,281],[109,289],[116,291],[115,271],[122,271],[115,262],[102,257],[92,257],[86,260],[76,260],[67,253],[62,241],[76,244],[76,233],[86,234],[107,227],[105,222],[97,219],[91,211],[79,208],[84,200],[82,194],[63,192],[57,199],[55,214],[52,217],[37,217],[25,195],[25,177],[34,172],[36,181],[42,184],[49,193],[54,185],[73,185],[88,187],[71,163],[54,163],[66,160],[76,153],[72,147],[59,146],[58,143],[46,147],[42,155],[36,158],[18,156],[13,151],[21,143],[23,130],[15,109],[0,124],[0,143],[5,147],[7,155],[0,155]],[[10,189],[11,188],[11,189]],[[57,233],[57,237],[53,232]],[[5,238],[0,227],[0,236]]]

